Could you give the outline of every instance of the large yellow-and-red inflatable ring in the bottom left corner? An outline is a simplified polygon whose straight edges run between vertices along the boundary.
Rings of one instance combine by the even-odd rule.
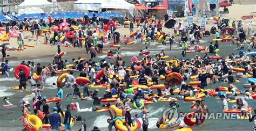
[[[41,130],[43,128],[42,120],[33,114],[24,115],[22,124],[28,130]]]

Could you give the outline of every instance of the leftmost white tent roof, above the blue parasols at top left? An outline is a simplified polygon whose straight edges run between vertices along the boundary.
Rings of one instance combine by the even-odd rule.
[[[18,9],[24,8],[41,8],[45,13],[52,12],[52,3],[47,0],[25,0],[21,4],[18,5]],[[35,12],[27,12],[27,13],[35,13]]]

